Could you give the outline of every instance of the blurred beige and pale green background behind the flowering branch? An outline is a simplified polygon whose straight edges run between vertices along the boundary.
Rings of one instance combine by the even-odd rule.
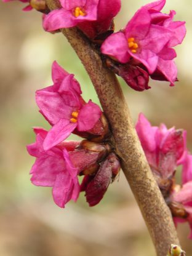
[[[146,0],[122,0],[116,30],[126,25]],[[24,5],[25,6],[25,5]],[[50,68],[57,60],[76,74],[84,98],[98,103],[97,95],[81,63],[62,34],[45,33],[41,14],[22,12],[21,2],[0,2],[0,255],[2,256],[153,256],[153,244],[140,210],[121,172],[98,206],[87,206],[82,194],[66,209],[54,204],[51,188],[31,185],[34,158],[25,146],[34,141],[33,126],[49,129],[34,101],[34,92],[49,86]],[[188,132],[192,146],[192,16],[191,0],[167,0],[164,10],[177,11],[177,20],[186,20],[188,33],[177,47],[178,79],[151,81],[152,89],[135,92],[119,78],[132,118],[145,113],[153,125],[164,122]],[[73,137],[74,139],[74,137]],[[192,148],[191,148],[192,149]],[[178,178],[180,171],[178,172]],[[188,224],[178,225],[178,236],[187,255],[192,242]]]

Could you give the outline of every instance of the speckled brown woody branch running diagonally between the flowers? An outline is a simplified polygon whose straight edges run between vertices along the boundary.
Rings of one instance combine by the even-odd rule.
[[[47,0],[50,9],[58,2]],[[154,180],[135,132],[124,95],[116,76],[103,66],[100,54],[76,28],[63,29],[97,91],[113,132],[116,153],[130,188],[137,199],[158,256],[166,256],[170,244],[179,244],[170,210]],[[129,225],[129,220],[127,220]],[[135,223],[136,224],[136,223]],[[136,224],[137,225],[137,224]]]

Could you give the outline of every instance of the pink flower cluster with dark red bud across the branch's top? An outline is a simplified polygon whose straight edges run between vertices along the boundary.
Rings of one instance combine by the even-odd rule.
[[[11,1],[11,0],[3,0]],[[60,7],[50,11],[45,0],[29,2],[44,12],[43,27],[49,32],[78,27],[100,46],[103,61],[134,90],[150,89],[149,78],[169,81],[174,86],[177,67],[173,47],[181,44],[186,34],[185,22],[174,21],[176,12],[161,12],[166,0],[142,6],[123,30],[114,32],[113,18],[121,8],[121,0],[59,0]]]

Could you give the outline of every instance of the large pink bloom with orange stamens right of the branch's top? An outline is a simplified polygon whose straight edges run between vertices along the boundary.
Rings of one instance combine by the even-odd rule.
[[[160,12],[165,2],[160,0],[140,8],[125,30],[109,36],[101,50],[121,63],[142,63],[150,74],[154,73],[152,78],[160,73],[161,79],[174,85],[177,68],[173,62],[176,53],[172,47],[181,44],[186,30],[185,22],[172,21],[174,11],[169,15]]]

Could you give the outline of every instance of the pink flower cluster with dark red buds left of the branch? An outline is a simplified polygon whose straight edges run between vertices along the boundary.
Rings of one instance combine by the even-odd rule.
[[[76,201],[80,191],[86,192],[87,202],[94,206],[120,169],[118,158],[106,142],[110,137],[108,122],[98,105],[84,101],[74,75],[57,62],[52,65],[52,79],[52,86],[36,92],[39,112],[52,128],[34,128],[36,142],[27,146],[36,158],[31,182],[51,186],[60,207],[71,199]],[[89,140],[65,141],[72,132]],[[78,175],[85,175],[81,185]]]

